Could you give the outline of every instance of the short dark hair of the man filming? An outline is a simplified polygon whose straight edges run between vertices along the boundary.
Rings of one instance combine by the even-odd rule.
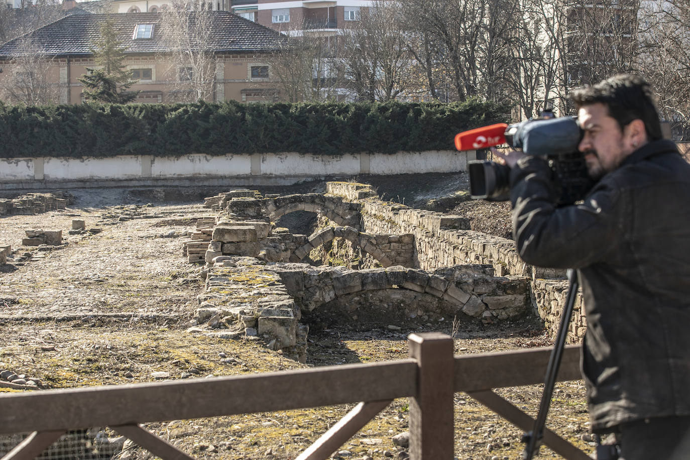
[[[650,141],[662,138],[651,86],[638,75],[615,75],[594,86],[573,91],[570,99],[577,108],[598,102],[604,104],[621,130],[631,121],[640,119]]]

